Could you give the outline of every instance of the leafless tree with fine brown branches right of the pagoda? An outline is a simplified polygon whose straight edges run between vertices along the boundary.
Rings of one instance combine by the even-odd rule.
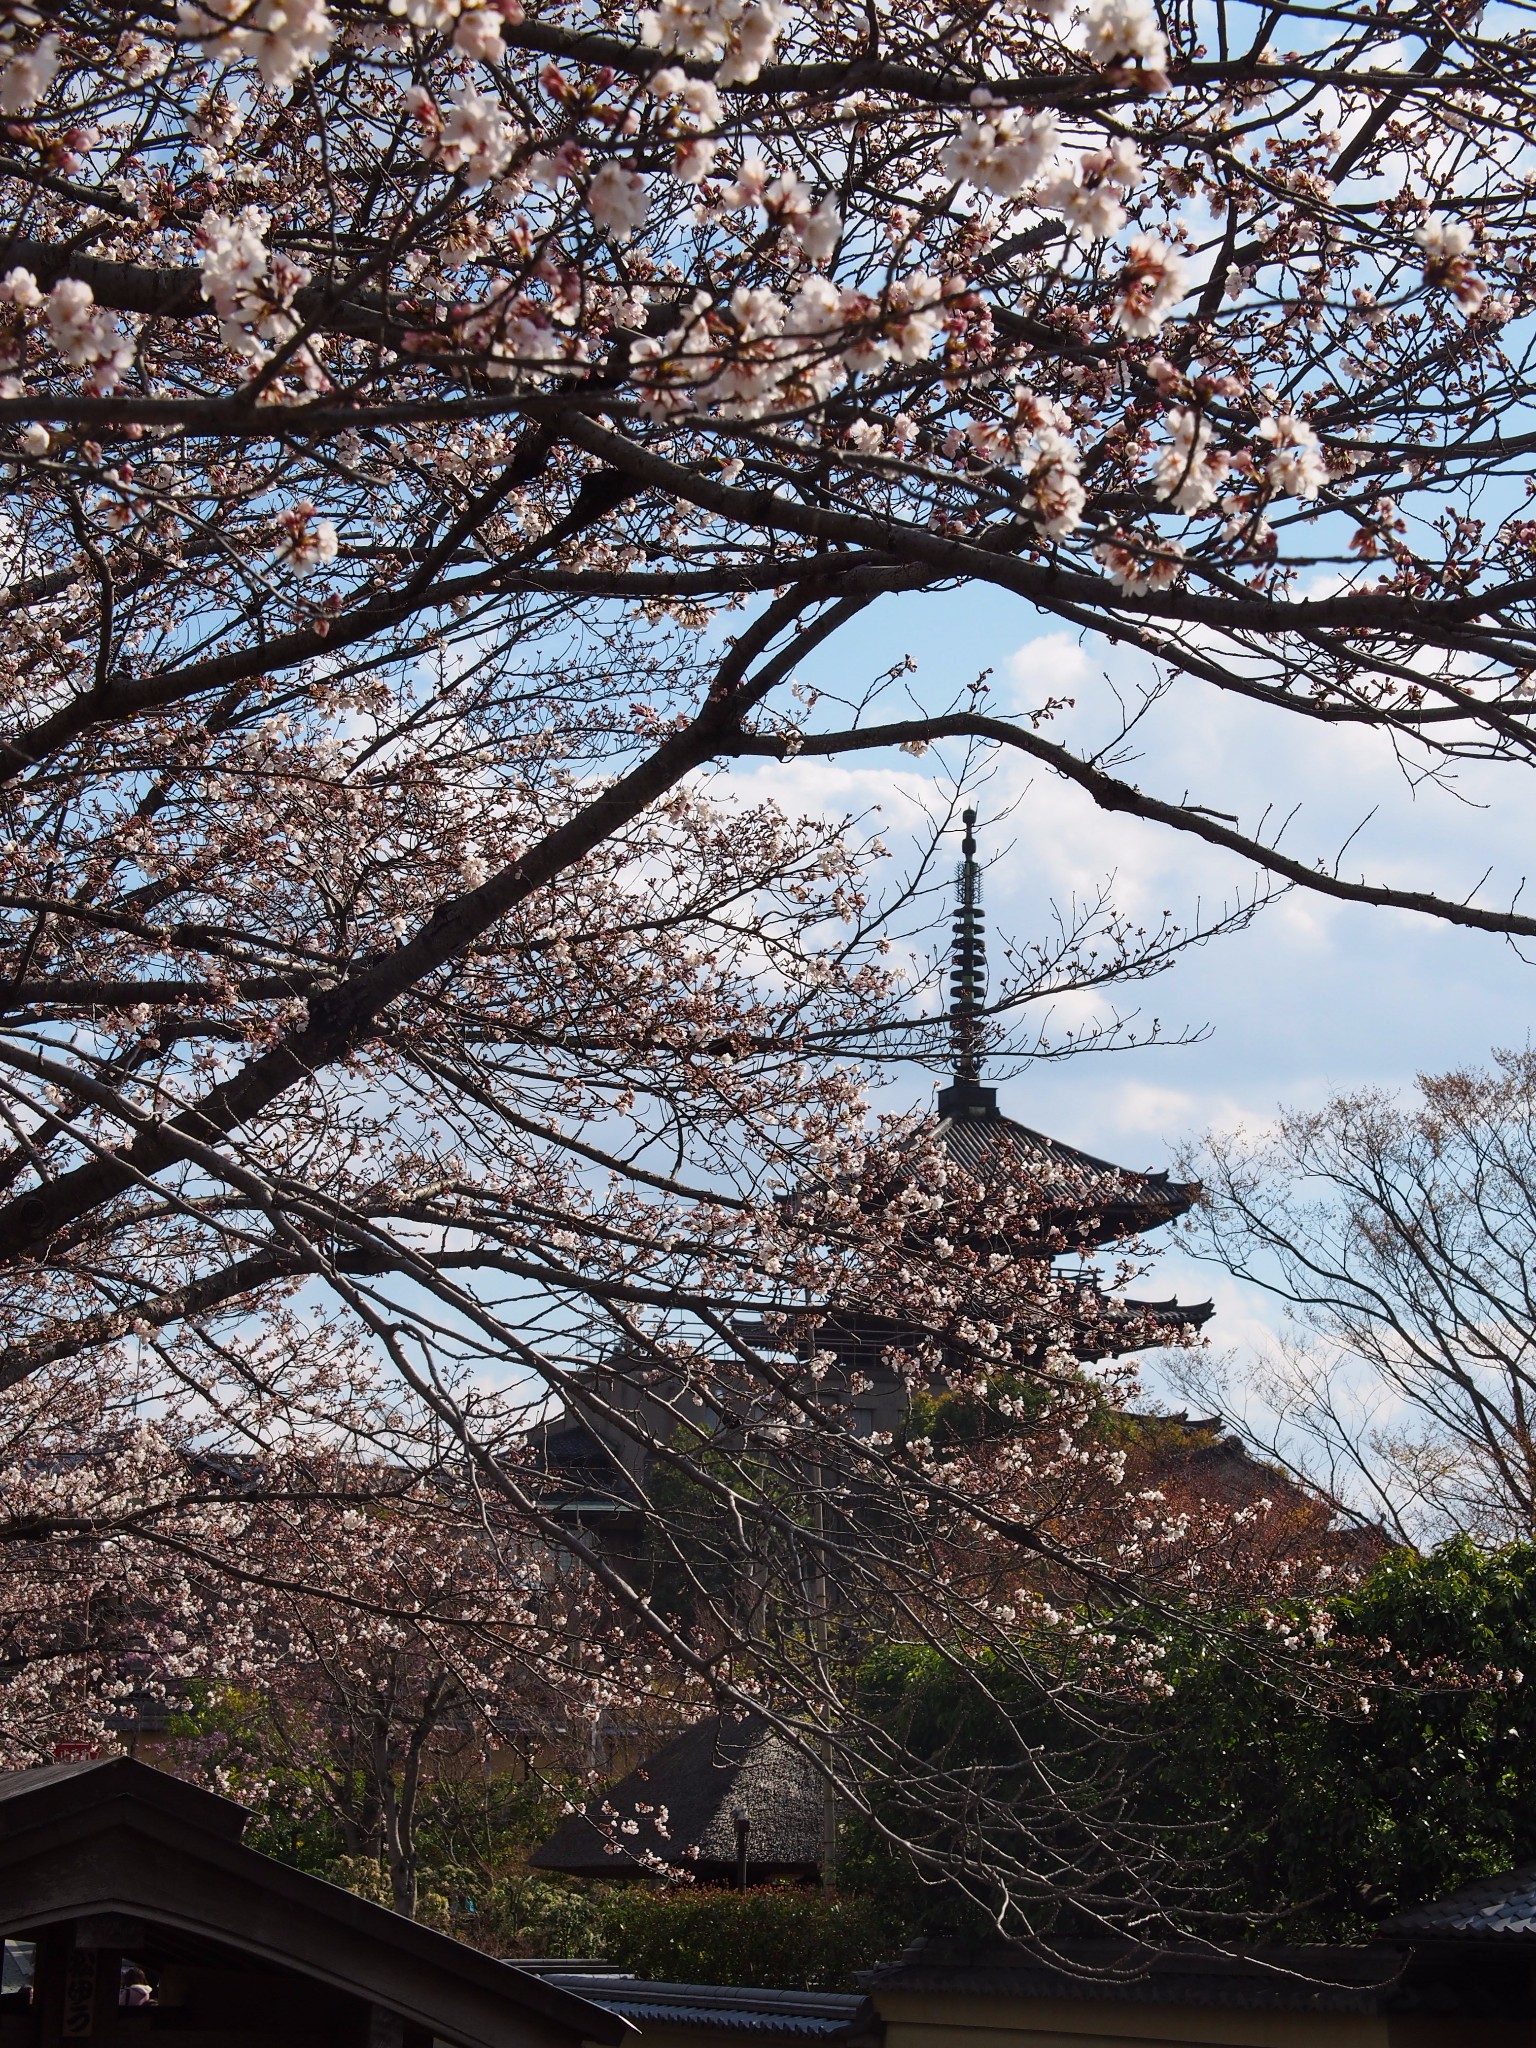
[[[1186,1380],[1403,1540],[1530,1538],[1536,1055],[1335,1096],[1198,1165],[1204,1253],[1292,1331],[1257,1370]]]

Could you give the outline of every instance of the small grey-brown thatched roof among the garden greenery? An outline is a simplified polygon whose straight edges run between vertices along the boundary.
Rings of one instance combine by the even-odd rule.
[[[750,1884],[815,1876],[821,1810],[821,1778],[809,1757],[764,1720],[711,1714],[590,1800],[586,1812],[567,1815],[530,1862],[580,1878],[633,1878],[655,1872],[657,1860],[731,1882],[739,1817]]]

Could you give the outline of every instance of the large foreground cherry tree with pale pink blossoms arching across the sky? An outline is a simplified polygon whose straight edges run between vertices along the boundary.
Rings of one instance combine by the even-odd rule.
[[[1051,700],[852,653],[836,698],[801,680],[881,602],[975,584],[1276,729],[1516,776],[1526,31],[1225,0],[0,16],[0,1380],[123,1341],[229,1360],[305,1290],[588,1575],[594,1657],[627,1630],[657,1683],[772,1706],[854,1804],[838,1599],[1028,1669],[1026,1612],[1221,1606],[1145,1503],[1071,1511],[1083,1460],[1116,1473],[1081,1364],[1112,1346],[1042,1190],[999,1214],[864,1128],[860,1069],[938,1051],[883,952],[911,895],[858,827],[709,776],[1010,750],[1262,887],[1530,936],[1221,788],[1141,788]],[[997,1016],[1188,936],[1067,913]],[[911,1382],[1008,1382],[1014,1442],[858,1438],[829,1303],[897,1325]],[[606,1421],[752,1524],[772,1597],[662,1612],[557,1511],[528,1430],[600,1401],[614,1348],[662,1401]],[[1112,1804],[1010,1911],[1161,1853]],[[1053,1810],[1047,1769],[1042,1839]]]

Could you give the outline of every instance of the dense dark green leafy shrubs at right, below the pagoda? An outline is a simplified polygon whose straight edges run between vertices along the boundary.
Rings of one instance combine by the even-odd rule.
[[[1171,1692],[1114,1702],[1104,1735],[1083,1735],[997,1657],[967,1673],[932,1651],[879,1651],[866,1710],[952,1780],[973,1772],[993,1802],[985,1843],[899,1784],[883,1794],[887,1819],[934,1851],[969,1851],[985,1882],[989,1853],[1028,1855],[1008,1810],[1028,1798],[1038,1745],[1065,1788],[1063,1841],[1071,1812],[1112,1802],[1124,1837],[1165,1855],[1165,1896],[1186,1886],[1227,1933],[1286,1939],[1358,1939],[1536,1858],[1536,1544],[1393,1552],[1333,1602],[1311,1686],[1296,1683],[1300,1661],[1286,1671],[1255,1649],[1247,1618],[1233,1624],[1225,1647],[1157,1624]],[[1124,1626],[1155,1632],[1137,1616]],[[930,1925],[967,1925],[963,1901],[858,1831],[844,1878]]]

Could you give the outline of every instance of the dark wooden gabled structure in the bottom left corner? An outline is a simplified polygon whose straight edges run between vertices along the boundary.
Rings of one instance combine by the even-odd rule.
[[[616,2048],[635,2030],[240,1841],[131,1757],[0,1778],[0,2048]]]

